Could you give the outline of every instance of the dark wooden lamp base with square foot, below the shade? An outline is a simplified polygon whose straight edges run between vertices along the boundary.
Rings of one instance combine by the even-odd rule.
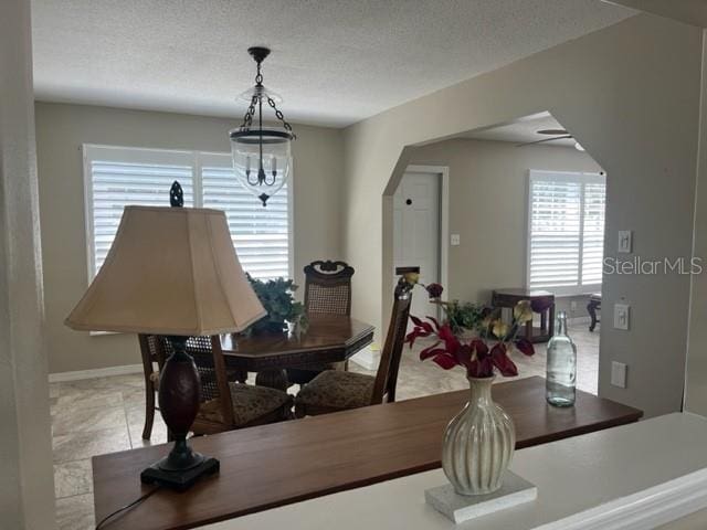
[[[187,353],[187,337],[169,337],[173,353],[167,359],[159,380],[159,409],[175,438],[169,455],[140,473],[145,484],[183,491],[200,477],[219,473],[219,460],[196,453],[187,434],[199,412],[199,372]]]

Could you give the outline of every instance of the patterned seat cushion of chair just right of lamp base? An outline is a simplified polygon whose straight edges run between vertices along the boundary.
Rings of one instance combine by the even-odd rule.
[[[271,414],[292,402],[292,396],[281,390],[251,384],[229,383],[233,403],[233,420],[236,426],[247,425],[257,418]],[[201,404],[199,417],[224,423],[219,399]]]

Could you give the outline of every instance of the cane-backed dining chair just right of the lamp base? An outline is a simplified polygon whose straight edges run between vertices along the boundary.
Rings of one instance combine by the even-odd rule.
[[[168,353],[171,346],[163,341]],[[201,380],[201,406],[191,426],[194,435],[275,423],[292,417],[293,398],[267,386],[230,381],[221,339],[190,337],[187,352],[194,360]]]

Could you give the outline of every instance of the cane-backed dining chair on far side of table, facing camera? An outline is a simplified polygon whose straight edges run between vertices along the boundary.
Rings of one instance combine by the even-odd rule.
[[[351,315],[351,276],[346,262],[318,259],[305,266],[305,312],[307,315]],[[289,383],[305,384],[324,370],[348,369],[348,363],[317,364],[287,369]]]

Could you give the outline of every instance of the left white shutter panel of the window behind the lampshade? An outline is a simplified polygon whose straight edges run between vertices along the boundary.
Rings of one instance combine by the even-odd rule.
[[[128,204],[168,206],[178,180],[193,204],[193,156],[187,151],[84,146],[88,275],[106,258]]]

